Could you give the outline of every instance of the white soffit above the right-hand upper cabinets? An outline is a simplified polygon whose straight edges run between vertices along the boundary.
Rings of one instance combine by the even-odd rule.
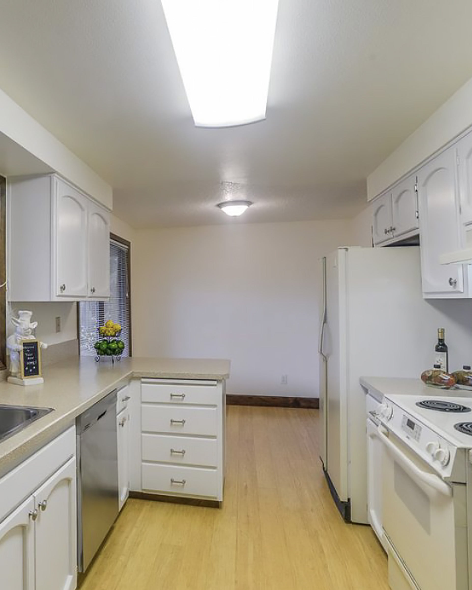
[[[380,194],[470,125],[472,78],[368,176],[368,199]]]

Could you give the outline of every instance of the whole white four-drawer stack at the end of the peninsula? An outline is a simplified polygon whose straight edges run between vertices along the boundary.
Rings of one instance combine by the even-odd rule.
[[[222,501],[224,383],[142,379],[142,490]]]

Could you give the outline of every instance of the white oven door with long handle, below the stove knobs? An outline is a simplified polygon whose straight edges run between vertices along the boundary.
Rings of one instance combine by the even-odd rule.
[[[392,588],[407,588],[408,580],[421,590],[468,590],[466,486],[445,483],[382,426],[378,434],[389,575],[394,559],[405,578]]]

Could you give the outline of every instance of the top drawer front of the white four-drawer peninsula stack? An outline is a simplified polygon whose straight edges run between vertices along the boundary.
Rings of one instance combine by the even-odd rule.
[[[214,383],[217,383],[215,381]],[[182,385],[173,383],[141,383],[141,400],[152,404],[217,405],[221,387],[217,385]]]

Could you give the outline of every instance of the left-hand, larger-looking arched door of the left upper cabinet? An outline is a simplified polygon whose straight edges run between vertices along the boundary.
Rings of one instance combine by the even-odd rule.
[[[56,194],[58,297],[87,296],[87,197],[58,178]]]

